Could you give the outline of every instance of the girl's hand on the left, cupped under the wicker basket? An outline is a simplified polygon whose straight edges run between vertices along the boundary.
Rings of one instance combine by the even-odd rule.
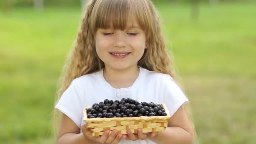
[[[83,135],[86,137],[86,139],[95,142],[96,144],[117,144],[122,138],[122,134],[119,133],[117,135],[117,130],[113,130],[112,133],[109,135],[109,130],[104,131],[102,136],[95,137],[92,136],[90,128],[86,128],[87,124],[82,126],[82,132]]]

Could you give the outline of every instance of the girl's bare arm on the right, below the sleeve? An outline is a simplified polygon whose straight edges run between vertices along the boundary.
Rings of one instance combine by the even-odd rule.
[[[148,138],[157,144],[193,144],[194,131],[186,113],[180,107],[168,121],[168,127],[164,132]]]

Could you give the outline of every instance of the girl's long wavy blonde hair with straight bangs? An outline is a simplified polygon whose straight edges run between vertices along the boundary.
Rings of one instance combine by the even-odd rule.
[[[175,78],[168,50],[161,32],[159,14],[151,0],[88,0],[75,45],[67,56],[59,79],[55,104],[72,80],[104,68],[95,48],[95,34],[99,28],[125,29],[127,21],[136,20],[146,34],[147,49],[138,66],[161,72]],[[189,109],[186,110],[189,115]],[[54,111],[55,126],[59,125],[60,112]],[[189,116],[190,117],[190,116]],[[192,120],[191,120],[192,122]]]

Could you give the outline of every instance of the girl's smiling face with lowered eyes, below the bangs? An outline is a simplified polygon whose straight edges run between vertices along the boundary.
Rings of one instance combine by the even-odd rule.
[[[98,29],[95,36],[96,52],[105,67],[123,70],[137,67],[146,43],[144,31],[135,23],[124,30]]]

